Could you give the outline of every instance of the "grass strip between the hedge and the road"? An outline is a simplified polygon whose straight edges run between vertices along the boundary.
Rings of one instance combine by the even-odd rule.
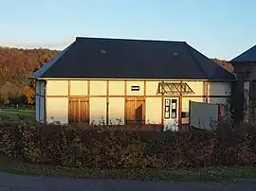
[[[201,170],[100,170],[26,164],[0,155],[0,170],[23,175],[152,181],[235,181],[256,178],[256,167],[215,167]]]

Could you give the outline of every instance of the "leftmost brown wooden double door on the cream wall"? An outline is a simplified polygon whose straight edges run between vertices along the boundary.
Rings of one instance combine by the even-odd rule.
[[[89,101],[84,97],[69,98],[68,123],[89,124]]]

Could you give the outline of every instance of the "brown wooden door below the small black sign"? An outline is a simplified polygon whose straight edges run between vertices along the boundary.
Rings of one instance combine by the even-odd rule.
[[[125,124],[145,124],[144,97],[127,97],[125,103]]]

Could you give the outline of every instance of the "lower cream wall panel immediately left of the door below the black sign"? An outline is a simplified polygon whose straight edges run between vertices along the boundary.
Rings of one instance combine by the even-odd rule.
[[[117,125],[119,123],[119,120],[117,119],[121,120],[120,124],[124,124],[124,104],[124,97],[109,98],[109,121],[111,120],[113,125]]]

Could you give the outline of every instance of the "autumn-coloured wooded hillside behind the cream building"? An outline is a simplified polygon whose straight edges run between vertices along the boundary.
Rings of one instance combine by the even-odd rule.
[[[59,51],[49,49],[19,49],[0,47],[0,97],[28,94],[33,71],[50,61]],[[213,59],[216,63],[232,71],[227,61]]]

